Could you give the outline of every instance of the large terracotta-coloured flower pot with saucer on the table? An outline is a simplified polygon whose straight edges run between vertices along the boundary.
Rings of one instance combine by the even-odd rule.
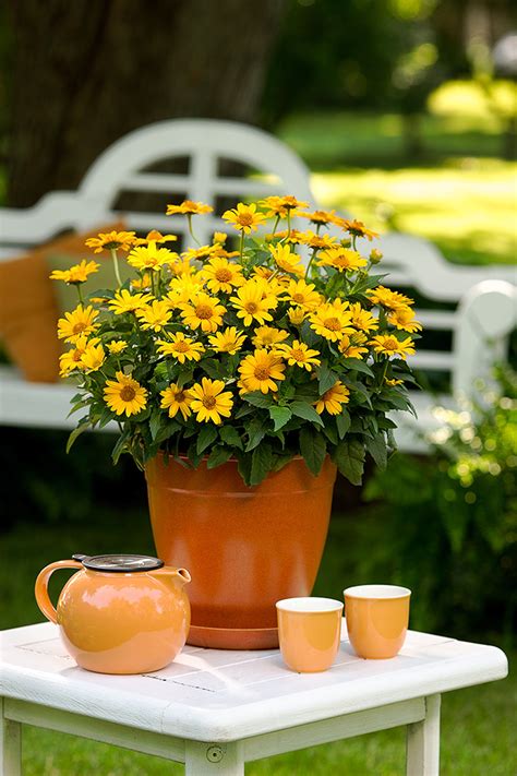
[[[192,574],[189,644],[278,646],[275,604],[309,596],[328,530],[336,467],[302,458],[247,487],[237,462],[189,469],[157,456],[146,479],[156,548]]]

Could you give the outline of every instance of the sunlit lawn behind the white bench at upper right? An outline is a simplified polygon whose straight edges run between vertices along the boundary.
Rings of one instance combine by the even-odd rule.
[[[324,206],[425,237],[449,261],[490,264],[517,259],[517,164],[497,158],[498,129],[490,117],[428,116],[418,160],[395,115],[293,117],[279,135],[314,171]]]

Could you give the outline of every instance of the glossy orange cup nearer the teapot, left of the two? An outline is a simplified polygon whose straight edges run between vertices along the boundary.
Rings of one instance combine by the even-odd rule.
[[[341,637],[341,601],[332,598],[285,598],[276,605],[284,661],[299,673],[326,671]]]

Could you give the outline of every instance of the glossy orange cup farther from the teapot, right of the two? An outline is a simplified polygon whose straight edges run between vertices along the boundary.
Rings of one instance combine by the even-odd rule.
[[[409,624],[411,590],[398,585],[357,585],[345,592],[348,637],[359,657],[398,655]]]

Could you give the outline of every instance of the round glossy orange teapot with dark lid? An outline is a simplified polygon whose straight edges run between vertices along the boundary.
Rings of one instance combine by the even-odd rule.
[[[79,569],[57,609],[48,581],[58,569]],[[147,556],[72,556],[47,565],[36,580],[36,601],[60,626],[74,660],[99,673],[146,673],[167,666],[184,646],[190,604],[187,569]]]

